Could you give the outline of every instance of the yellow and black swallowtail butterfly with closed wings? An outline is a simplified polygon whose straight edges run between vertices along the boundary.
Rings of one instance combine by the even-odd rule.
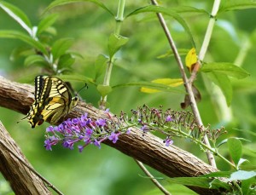
[[[35,101],[25,118],[32,128],[41,125],[47,119],[50,119],[50,123],[57,123],[77,105],[78,101],[78,96],[72,97],[67,83],[60,78],[39,75],[35,77]]]

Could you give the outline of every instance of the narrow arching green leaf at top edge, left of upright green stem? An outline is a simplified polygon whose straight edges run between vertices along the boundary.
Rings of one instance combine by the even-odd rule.
[[[57,6],[60,5],[64,5],[67,3],[78,3],[78,2],[91,2],[91,3],[96,3],[96,5],[98,5],[99,7],[101,7],[102,9],[105,9],[106,11],[108,11],[109,14],[114,15],[110,9],[108,9],[104,3],[98,1],[98,0],[56,0],[52,3],[49,4],[49,6],[44,10],[44,13],[49,11],[49,9],[53,9]]]

